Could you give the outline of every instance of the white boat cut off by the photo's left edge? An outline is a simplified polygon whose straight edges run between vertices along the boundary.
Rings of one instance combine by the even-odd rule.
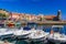
[[[11,37],[13,35],[12,31],[9,31],[6,28],[0,28],[0,38]]]

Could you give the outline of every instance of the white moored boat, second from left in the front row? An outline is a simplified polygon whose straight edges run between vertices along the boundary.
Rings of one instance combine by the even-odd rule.
[[[30,33],[31,33],[31,32],[21,29],[21,30],[14,31],[13,35],[14,35],[15,37],[18,37],[18,38],[28,38],[28,35],[29,35]]]

